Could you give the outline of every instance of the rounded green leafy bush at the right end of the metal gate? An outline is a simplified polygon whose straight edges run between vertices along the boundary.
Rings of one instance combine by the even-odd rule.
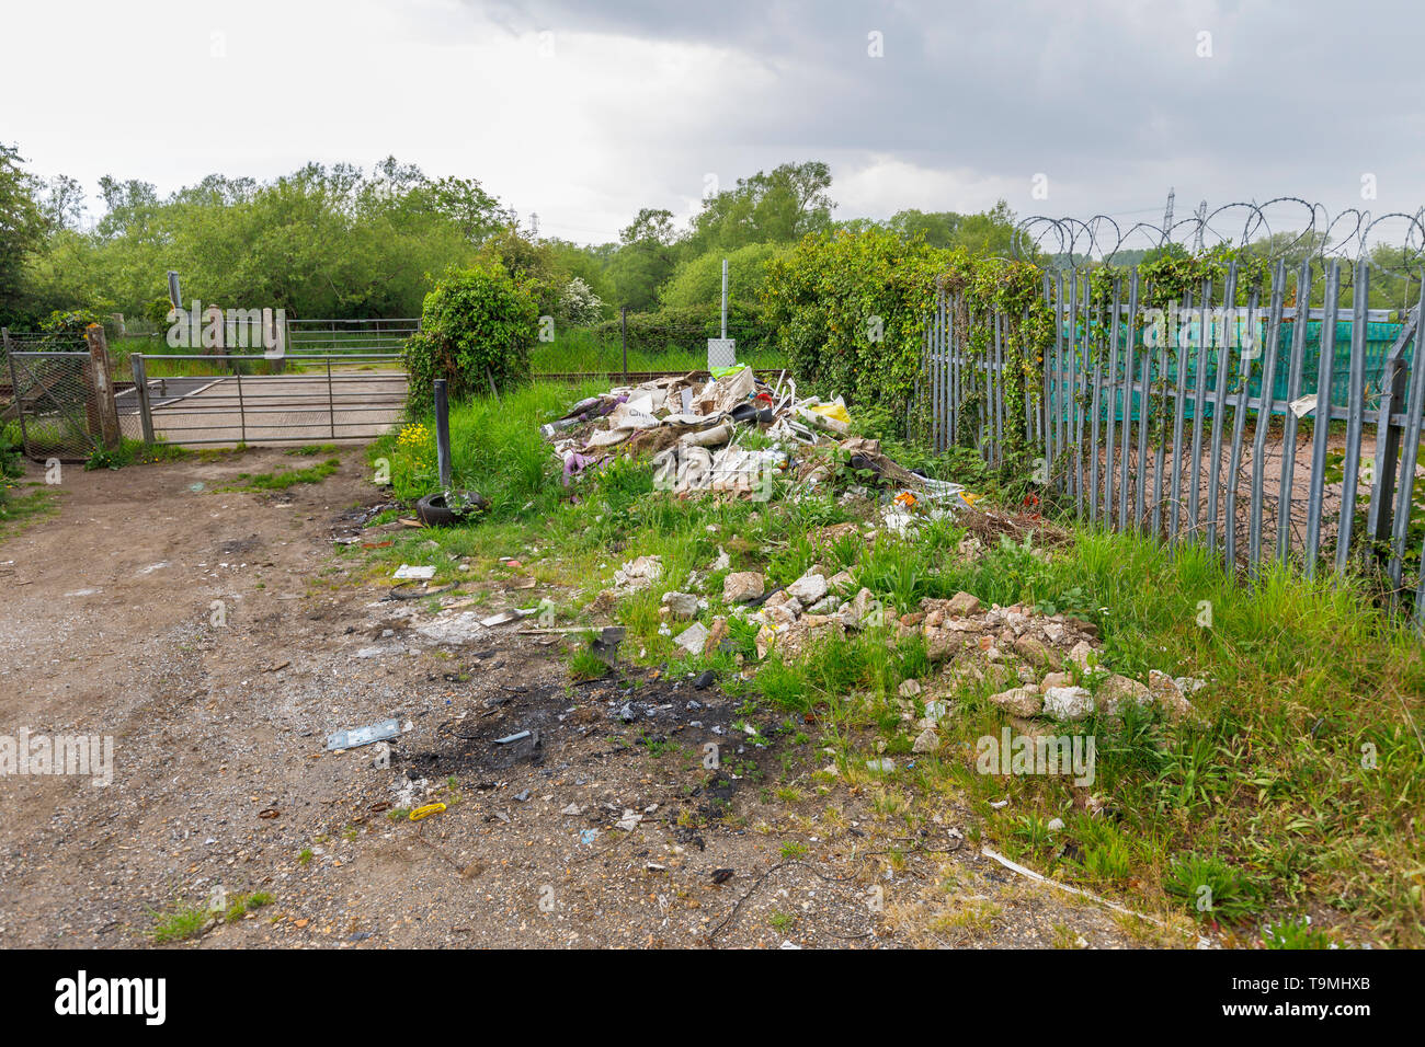
[[[420,330],[406,340],[410,397],[425,407],[443,377],[452,399],[529,376],[539,305],[503,265],[449,269],[426,295]]]

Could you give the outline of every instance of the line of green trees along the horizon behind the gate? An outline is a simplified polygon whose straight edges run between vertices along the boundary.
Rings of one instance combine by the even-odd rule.
[[[839,219],[831,187],[826,164],[788,162],[708,192],[685,226],[643,208],[616,242],[581,245],[537,236],[475,178],[432,178],[388,157],[369,171],[314,162],[271,181],[214,174],[168,195],[104,177],[103,215],[86,226],[76,179],[41,178],[0,144],[0,323],[83,311],[162,323],[168,269],[204,305],[416,316],[435,278],[496,259],[566,322],[608,321],[618,306],[703,316],[717,308],[724,258],[742,322],[758,309],[768,264],[808,234],[876,228],[933,248],[1009,252],[1015,217],[1003,202],[973,215]]]

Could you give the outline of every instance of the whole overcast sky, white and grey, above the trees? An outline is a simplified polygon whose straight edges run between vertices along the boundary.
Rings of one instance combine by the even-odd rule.
[[[7,0],[0,141],[95,211],[103,174],[167,192],[395,154],[580,242],[799,160],[831,164],[842,218],[1003,198],[1131,224],[1170,185],[1178,218],[1415,212],[1422,30],[1411,0]]]

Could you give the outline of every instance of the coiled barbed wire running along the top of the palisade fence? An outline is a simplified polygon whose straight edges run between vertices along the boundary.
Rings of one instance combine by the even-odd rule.
[[[1405,232],[1398,241],[1399,261],[1394,254],[1372,251],[1381,244],[1396,246],[1384,238],[1388,222],[1404,222]],[[1290,239],[1275,242],[1277,234],[1294,232]],[[1425,264],[1425,208],[1414,215],[1391,211],[1372,215],[1359,208],[1347,208],[1335,215],[1324,204],[1312,204],[1300,197],[1277,197],[1265,204],[1237,201],[1223,204],[1211,212],[1197,212],[1164,228],[1154,222],[1134,222],[1127,229],[1110,215],[1092,218],[1052,218],[1032,215],[1015,226],[1010,251],[1015,258],[1032,258],[1036,252],[1057,255],[1073,269],[1089,265],[1113,264],[1124,251],[1140,251],[1177,245],[1191,254],[1220,244],[1235,246],[1261,244],[1264,258],[1300,262],[1311,258],[1325,266],[1332,259],[1355,262],[1372,261],[1375,268],[1405,275]],[[1387,261],[1382,261],[1387,259]]]

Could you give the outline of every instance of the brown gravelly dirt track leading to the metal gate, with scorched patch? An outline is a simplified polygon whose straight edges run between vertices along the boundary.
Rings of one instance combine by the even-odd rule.
[[[774,741],[750,744],[715,689],[647,670],[570,688],[557,645],[459,617],[537,593],[447,611],[469,635],[435,642],[426,601],[335,554],[380,500],[362,453],[339,457],[264,494],[219,489],[281,450],[67,469],[58,514],[0,543],[0,735],[114,746],[107,786],[0,775],[0,946],[147,944],[215,889],[271,902],[201,947],[1134,940],[956,839],[950,801],[898,836],[884,796],[817,783],[826,756],[775,722],[754,715]],[[325,751],[386,718],[388,758]]]

